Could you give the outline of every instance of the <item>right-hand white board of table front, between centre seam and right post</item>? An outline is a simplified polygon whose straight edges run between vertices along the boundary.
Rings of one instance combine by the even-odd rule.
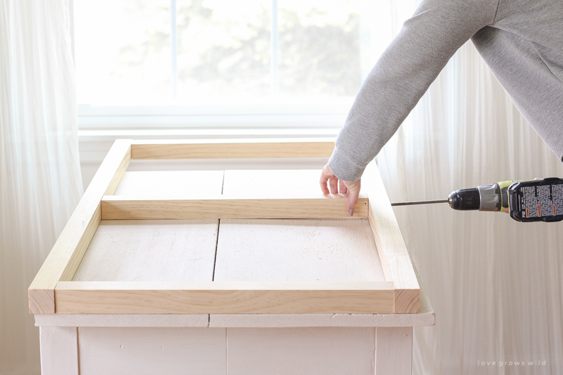
[[[227,374],[373,375],[375,338],[375,328],[227,328]]]

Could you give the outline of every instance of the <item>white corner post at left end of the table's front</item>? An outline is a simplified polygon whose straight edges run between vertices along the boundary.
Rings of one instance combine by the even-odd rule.
[[[78,375],[76,327],[39,328],[42,375]]]

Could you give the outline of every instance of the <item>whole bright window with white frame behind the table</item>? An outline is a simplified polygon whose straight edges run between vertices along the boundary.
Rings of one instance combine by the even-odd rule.
[[[79,126],[339,127],[373,63],[364,3],[74,0]]]

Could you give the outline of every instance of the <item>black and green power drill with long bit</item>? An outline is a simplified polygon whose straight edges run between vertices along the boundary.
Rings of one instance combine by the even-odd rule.
[[[446,202],[454,210],[503,211],[508,208],[510,217],[522,222],[562,221],[563,178],[496,182],[452,191],[448,199],[401,202],[391,206]]]

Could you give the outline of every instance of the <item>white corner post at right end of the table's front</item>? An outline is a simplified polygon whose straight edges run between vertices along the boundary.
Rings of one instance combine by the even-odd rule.
[[[376,375],[411,375],[413,328],[376,328]]]

